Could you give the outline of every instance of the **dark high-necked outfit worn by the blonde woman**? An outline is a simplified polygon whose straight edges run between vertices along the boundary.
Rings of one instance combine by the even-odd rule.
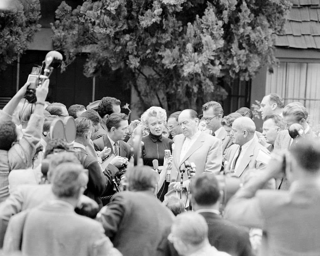
[[[157,159],[159,166],[163,165],[164,162],[164,150],[169,149],[172,153],[172,143],[173,141],[164,138],[161,135],[154,135],[151,132],[148,136],[142,138],[144,143],[142,147],[142,158],[143,164],[153,167],[152,160]],[[157,197],[162,202],[164,200],[164,195],[168,192],[169,182],[164,182],[163,186],[158,192]]]

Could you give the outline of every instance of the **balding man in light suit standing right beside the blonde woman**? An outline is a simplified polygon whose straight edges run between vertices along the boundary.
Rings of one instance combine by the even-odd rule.
[[[198,114],[192,109],[183,110],[178,121],[183,134],[173,138],[171,185],[174,189],[180,190],[179,168],[186,160],[195,163],[196,175],[203,172],[219,174],[222,163],[222,142],[198,129]],[[187,174],[184,175],[184,181],[183,187],[188,189]]]

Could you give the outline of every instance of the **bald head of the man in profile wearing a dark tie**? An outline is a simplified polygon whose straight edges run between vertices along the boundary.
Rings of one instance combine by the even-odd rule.
[[[242,146],[253,139],[256,125],[249,117],[239,117],[232,124],[233,143]]]

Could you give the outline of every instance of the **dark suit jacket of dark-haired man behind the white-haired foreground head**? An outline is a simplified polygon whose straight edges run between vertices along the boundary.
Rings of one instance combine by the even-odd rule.
[[[227,252],[232,256],[252,255],[249,240],[249,229],[238,226],[213,212],[199,212],[209,227],[208,238],[218,251]]]

